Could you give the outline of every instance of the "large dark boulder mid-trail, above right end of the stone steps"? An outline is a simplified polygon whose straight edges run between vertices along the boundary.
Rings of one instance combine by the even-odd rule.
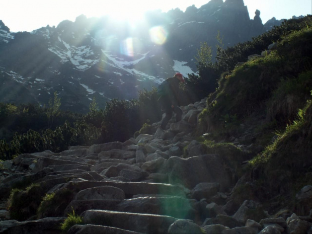
[[[220,184],[220,191],[227,191],[232,185],[231,176],[217,154],[204,154],[188,159],[171,157],[164,164],[171,184],[182,184],[193,189],[199,183]]]

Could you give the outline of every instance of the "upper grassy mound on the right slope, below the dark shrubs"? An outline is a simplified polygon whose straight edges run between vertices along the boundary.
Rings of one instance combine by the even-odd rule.
[[[268,105],[268,121],[292,121],[312,89],[311,71],[306,70],[311,64],[307,55],[312,53],[307,40],[311,32],[304,28],[288,34],[277,50],[250,60],[223,77],[222,86],[208,98],[209,118],[224,122],[228,115],[241,120]]]

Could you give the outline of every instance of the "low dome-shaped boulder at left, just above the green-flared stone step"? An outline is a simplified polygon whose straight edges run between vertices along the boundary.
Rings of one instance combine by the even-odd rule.
[[[105,199],[125,199],[125,193],[112,186],[94,187],[81,190],[73,200],[105,200]]]

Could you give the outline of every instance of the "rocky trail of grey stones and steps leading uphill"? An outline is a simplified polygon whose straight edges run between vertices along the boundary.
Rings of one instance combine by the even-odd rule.
[[[4,162],[0,233],[61,233],[61,223],[73,213],[83,223],[73,225],[71,234],[312,233],[311,214],[273,217],[256,201],[235,203],[231,191],[242,183],[236,169],[222,155],[206,154],[192,137],[205,105],[202,100],[183,107],[183,120],[170,122],[166,131],[154,123],[153,134],[125,142],[21,154]],[[10,193],[21,187],[20,204],[13,202],[9,211]],[[302,193],[309,196],[311,187]],[[41,203],[46,194],[53,198]]]

